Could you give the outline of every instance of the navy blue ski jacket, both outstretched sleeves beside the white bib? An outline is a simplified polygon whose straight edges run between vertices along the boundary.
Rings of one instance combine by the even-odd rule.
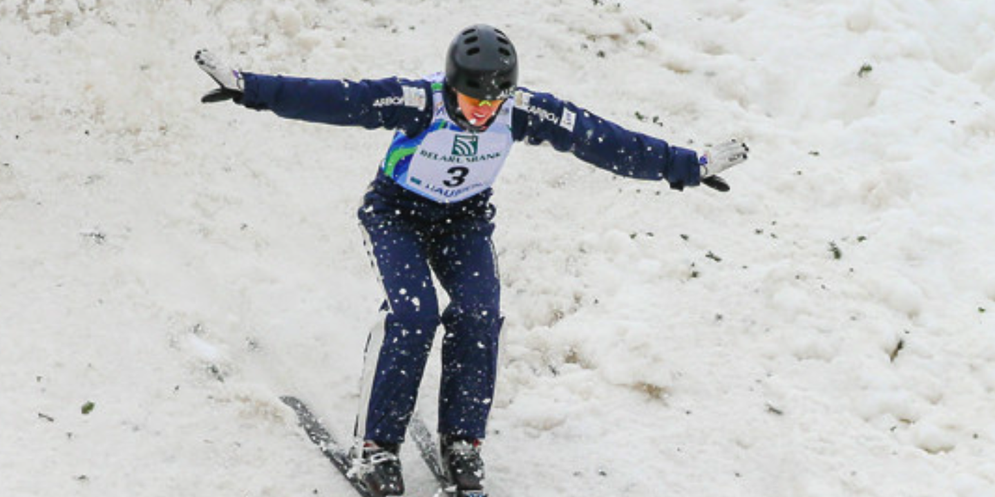
[[[245,94],[239,103],[258,110],[272,110],[282,117],[311,122],[399,129],[416,136],[431,122],[431,104],[422,108],[405,101],[405,86],[422,88],[424,80],[312,80],[243,73]],[[694,150],[630,131],[556,96],[518,87],[512,111],[515,141],[538,145],[548,142],[561,152],[571,152],[599,168],[630,178],[667,181],[682,190],[700,182]],[[568,129],[559,125],[564,109],[574,114]]]

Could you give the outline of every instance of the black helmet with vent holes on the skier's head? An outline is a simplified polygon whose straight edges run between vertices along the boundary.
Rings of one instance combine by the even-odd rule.
[[[449,45],[446,84],[474,98],[511,96],[518,83],[518,56],[504,33],[478,24],[463,30]]]

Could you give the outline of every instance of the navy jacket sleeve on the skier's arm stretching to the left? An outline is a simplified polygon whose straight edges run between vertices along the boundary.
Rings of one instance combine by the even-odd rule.
[[[431,122],[431,85],[397,78],[385,80],[311,80],[242,74],[245,94],[239,103],[272,110],[281,117],[310,122],[402,129],[417,134]]]

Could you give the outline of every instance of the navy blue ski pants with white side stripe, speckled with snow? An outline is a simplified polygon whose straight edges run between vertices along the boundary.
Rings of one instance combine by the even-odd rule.
[[[364,197],[359,219],[386,291],[386,314],[366,345],[358,438],[404,441],[440,324],[439,432],[484,438],[501,326],[489,200],[487,192],[438,204],[382,175]],[[433,273],[450,298],[442,312]]]

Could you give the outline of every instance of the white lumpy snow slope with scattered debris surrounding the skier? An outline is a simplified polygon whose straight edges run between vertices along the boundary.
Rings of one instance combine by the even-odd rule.
[[[515,147],[495,497],[995,496],[986,0],[0,0],[0,496],[351,495],[278,398],[351,432],[391,132],[201,104],[192,56],[417,78],[478,22],[752,151],[719,194]]]

